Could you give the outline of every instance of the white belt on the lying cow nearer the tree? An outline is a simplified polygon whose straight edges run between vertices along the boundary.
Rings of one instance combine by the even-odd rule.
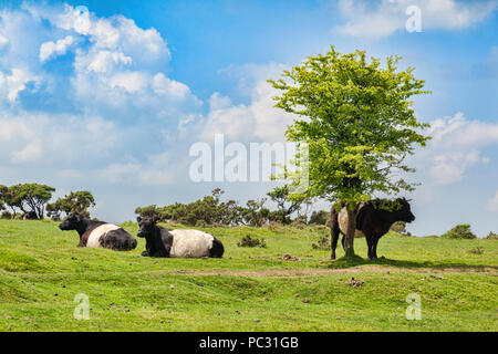
[[[199,230],[173,230],[172,258],[208,257],[215,238]]]

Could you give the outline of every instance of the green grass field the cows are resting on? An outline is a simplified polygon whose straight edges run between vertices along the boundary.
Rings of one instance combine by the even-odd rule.
[[[390,233],[385,259],[331,261],[311,247],[322,228],[204,230],[224,242],[222,259],[143,258],[143,239],[132,252],[79,249],[55,222],[0,220],[0,331],[498,330],[497,240]],[[238,247],[248,233],[268,248]],[[364,239],[355,249],[366,258]],[[346,284],[353,277],[364,283]],[[89,320],[74,319],[80,293]],[[419,321],[405,315],[412,293]]]

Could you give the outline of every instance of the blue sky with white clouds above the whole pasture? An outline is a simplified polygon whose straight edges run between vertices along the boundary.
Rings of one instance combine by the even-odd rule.
[[[409,6],[421,32],[405,28]],[[261,197],[270,183],[190,181],[188,148],[215,133],[283,140],[292,117],[266,80],[333,44],[402,55],[433,91],[414,105],[434,139],[412,159],[409,229],[485,236],[498,231],[497,30],[494,0],[2,1],[0,183],[89,189],[115,222],[217,186]]]

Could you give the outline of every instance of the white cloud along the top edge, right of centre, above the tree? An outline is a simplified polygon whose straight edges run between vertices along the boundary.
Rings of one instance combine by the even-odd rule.
[[[341,0],[339,9],[345,18],[344,24],[334,32],[353,35],[381,38],[405,30],[408,7],[421,10],[422,30],[460,30],[481,22],[497,8],[496,0],[382,0],[380,3],[357,0]]]

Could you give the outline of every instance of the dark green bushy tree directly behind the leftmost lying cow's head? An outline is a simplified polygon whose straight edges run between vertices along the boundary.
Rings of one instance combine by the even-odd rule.
[[[95,207],[95,199],[87,190],[71,191],[64,198],[59,198],[55,202],[46,205],[46,211],[53,219],[61,219],[61,214],[70,215],[79,212],[90,217],[89,208]]]

